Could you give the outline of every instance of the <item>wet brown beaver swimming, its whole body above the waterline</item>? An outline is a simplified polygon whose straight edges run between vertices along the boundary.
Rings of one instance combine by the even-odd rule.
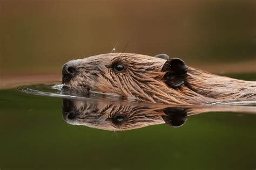
[[[167,104],[252,100],[256,82],[231,79],[187,67],[177,58],[110,53],[72,60],[63,66],[71,89]],[[167,60],[165,60],[167,59]]]

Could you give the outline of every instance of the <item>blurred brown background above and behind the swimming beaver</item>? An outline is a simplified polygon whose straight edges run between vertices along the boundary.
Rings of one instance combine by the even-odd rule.
[[[179,57],[213,73],[256,72],[256,1],[1,0],[1,76],[60,74],[111,52]]]

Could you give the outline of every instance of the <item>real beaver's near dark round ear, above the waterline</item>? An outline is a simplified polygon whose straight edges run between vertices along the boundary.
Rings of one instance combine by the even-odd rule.
[[[167,60],[161,71],[166,72],[164,81],[171,88],[180,87],[187,78],[187,66],[178,58]]]

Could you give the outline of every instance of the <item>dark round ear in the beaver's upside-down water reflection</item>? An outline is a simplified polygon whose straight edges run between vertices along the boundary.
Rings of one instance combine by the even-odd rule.
[[[187,112],[183,108],[165,108],[162,116],[164,122],[173,127],[180,127],[187,120]]]

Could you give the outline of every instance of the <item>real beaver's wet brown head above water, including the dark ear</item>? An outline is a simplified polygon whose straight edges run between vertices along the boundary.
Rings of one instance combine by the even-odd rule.
[[[186,79],[187,67],[178,59],[161,59],[130,53],[110,53],[80,60],[63,66],[63,83],[80,91],[98,91],[139,101],[172,98],[166,89],[179,88]],[[173,90],[176,91],[176,90]]]

